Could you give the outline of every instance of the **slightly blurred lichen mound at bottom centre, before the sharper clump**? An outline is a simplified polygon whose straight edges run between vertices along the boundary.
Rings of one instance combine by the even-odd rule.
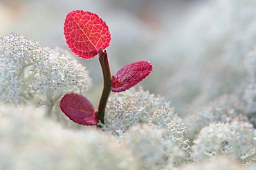
[[[139,169],[163,169],[166,165],[179,167],[189,164],[188,151],[180,141],[165,138],[166,129],[154,125],[134,125],[120,137],[132,151]]]

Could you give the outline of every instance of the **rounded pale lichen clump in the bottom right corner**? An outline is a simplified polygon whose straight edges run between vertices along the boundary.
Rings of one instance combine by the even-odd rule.
[[[192,151],[194,162],[226,154],[243,164],[255,164],[256,131],[252,124],[240,120],[210,123],[201,129]]]

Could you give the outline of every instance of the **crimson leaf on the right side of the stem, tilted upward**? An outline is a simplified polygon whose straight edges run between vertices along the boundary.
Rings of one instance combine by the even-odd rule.
[[[149,61],[137,61],[122,67],[111,83],[112,92],[123,92],[142,81],[152,72],[153,66]]]

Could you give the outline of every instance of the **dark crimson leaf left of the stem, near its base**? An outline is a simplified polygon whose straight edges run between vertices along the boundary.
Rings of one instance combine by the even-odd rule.
[[[80,125],[98,124],[93,105],[81,94],[66,94],[60,100],[60,109],[70,120]]]

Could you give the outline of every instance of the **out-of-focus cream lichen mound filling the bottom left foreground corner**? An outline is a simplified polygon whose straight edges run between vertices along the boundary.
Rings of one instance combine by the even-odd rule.
[[[33,106],[0,105],[0,136],[0,169],[137,169],[113,136],[64,129]]]

